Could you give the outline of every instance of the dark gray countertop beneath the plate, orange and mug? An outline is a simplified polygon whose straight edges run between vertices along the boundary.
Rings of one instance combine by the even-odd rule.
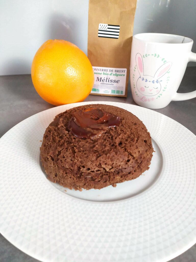
[[[191,92],[195,86],[196,67],[188,67],[178,92]],[[89,95],[84,101],[115,101],[136,105],[132,99],[130,86],[128,97]],[[0,77],[0,137],[10,128],[27,117],[54,107],[45,102],[35,91],[30,75],[10,75]],[[167,107],[155,110],[162,113],[196,134],[196,98],[171,102]],[[23,253],[0,235],[1,262],[38,262]],[[196,244],[170,262],[196,262]]]

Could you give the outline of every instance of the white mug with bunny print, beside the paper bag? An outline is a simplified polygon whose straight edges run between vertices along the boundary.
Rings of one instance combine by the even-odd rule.
[[[193,40],[178,35],[144,33],[133,36],[130,80],[134,101],[158,109],[171,101],[196,97],[196,91],[177,93],[187,63],[196,62]]]

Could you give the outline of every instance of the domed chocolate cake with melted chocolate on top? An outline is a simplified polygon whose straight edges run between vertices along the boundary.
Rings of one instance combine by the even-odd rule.
[[[97,104],[58,114],[45,130],[40,151],[50,181],[82,190],[139,177],[149,168],[153,148],[136,116]]]

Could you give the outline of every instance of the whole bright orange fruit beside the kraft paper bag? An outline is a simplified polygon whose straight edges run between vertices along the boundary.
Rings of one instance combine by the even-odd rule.
[[[83,101],[94,84],[88,57],[65,40],[43,43],[33,58],[31,77],[38,94],[56,106]]]

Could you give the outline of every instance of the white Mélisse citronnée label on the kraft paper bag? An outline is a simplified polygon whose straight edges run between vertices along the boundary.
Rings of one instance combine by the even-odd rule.
[[[95,67],[95,81],[91,93],[125,95],[126,68]]]

